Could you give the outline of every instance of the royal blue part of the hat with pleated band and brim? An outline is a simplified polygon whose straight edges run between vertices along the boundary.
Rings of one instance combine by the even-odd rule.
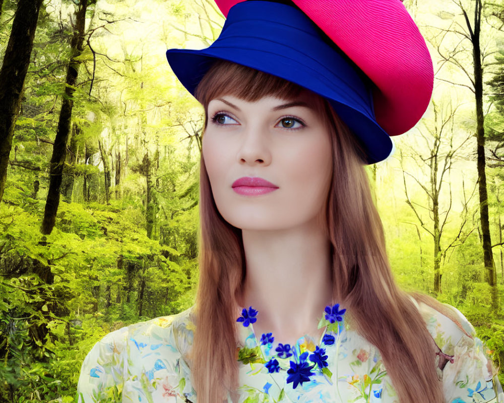
[[[393,150],[376,122],[372,83],[301,10],[268,1],[234,5],[219,38],[208,48],[169,49],[166,57],[193,96],[216,59],[280,77],[325,98],[360,140],[368,164]],[[330,41],[330,39],[329,39]]]

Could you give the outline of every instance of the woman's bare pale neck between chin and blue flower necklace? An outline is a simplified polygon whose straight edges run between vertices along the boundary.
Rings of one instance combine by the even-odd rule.
[[[242,231],[246,276],[238,303],[259,311],[256,335],[280,343],[319,337],[319,318],[332,303],[329,240],[316,225],[284,231]]]

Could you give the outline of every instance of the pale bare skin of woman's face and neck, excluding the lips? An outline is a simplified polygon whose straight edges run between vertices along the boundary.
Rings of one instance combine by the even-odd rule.
[[[274,109],[299,101],[305,105]],[[292,345],[306,334],[318,342],[318,319],[332,303],[331,248],[322,224],[332,149],[323,119],[310,107],[317,102],[305,91],[289,101],[225,95],[208,106],[203,157],[212,193],[223,218],[243,235],[246,277],[237,302],[259,311],[256,335],[273,332],[275,344]],[[241,177],[278,188],[239,194],[231,185]]]

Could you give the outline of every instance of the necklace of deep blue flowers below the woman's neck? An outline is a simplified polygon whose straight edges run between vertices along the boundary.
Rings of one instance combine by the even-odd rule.
[[[268,373],[273,374],[280,372],[281,369],[285,369],[282,368],[281,363],[286,364],[288,360],[287,383],[292,383],[293,389],[298,385],[302,386],[303,382],[309,382],[318,372],[331,379],[332,373],[328,368],[326,347],[334,345],[343,330],[345,311],[346,309],[340,309],[340,304],[326,306],[318,326],[319,329],[327,326],[326,333],[322,338],[321,346],[315,346],[314,350],[309,350],[307,346],[297,349],[291,347],[289,344],[279,343],[275,349],[275,357],[266,361],[260,346],[256,346],[255,348],[242,347],[238,351],[238,361],[241,361],[243,364],[262,363],[268,370]],[[257,321],[257,314],[258,311],[251,306],[248,309],[243,308],[241,315],[236,321],[241,322],[244,327],[248,327]],[[267,346],[267,348],[271,349],[274,340],[275,338],[272,333],[263,333],[259,343],[261,346]],[[280,359],[280,362],[278,359]]]

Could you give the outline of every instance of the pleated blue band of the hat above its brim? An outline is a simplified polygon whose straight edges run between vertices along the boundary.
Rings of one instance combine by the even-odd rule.
[[[265,3],[277,13],[265,13]],[[331,93],[345,94],[345,98],[360,104],[368,112],[368,117],[374,119],[370,88],[354,67],[324,42],[318,27],[293,7],[262,1],[236,4],[229,11],[219,38],[210,49],[226,49],[230,58],[233,49],[264,52],[263,64],[268,62],[267,53],[287,58],[293,62],[290,69],[301,69],[301,73],[318,77]],[[274,59],[270,61],[276,62]]]

